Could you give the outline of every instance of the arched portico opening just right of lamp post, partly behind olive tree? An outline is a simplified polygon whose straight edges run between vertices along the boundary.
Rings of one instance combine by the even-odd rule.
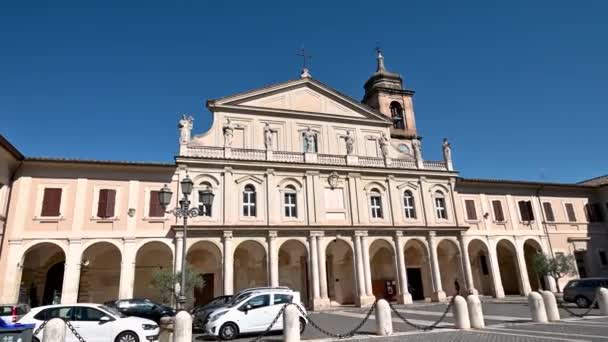
[[[214,242],[193,243],[186,253],[186,263],[203,280],[202,286],[193,289],[192,306],[206,304],[223,292],[222,251]]]

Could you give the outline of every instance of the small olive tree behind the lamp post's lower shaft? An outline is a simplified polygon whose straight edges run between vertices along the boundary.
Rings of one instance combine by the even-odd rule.
[[[179,293],[176,293],[176,285],[181,285],[182,272],[174,273],[172,269],[160,269],[152,274],[150,287],[157,289],[160,292],[161,301],[163,304],[171,304],[172,300],[177,301]],[[194,270],[191,264],[186,264],[186,288],[184,294],[188,301],[193,298],[193,290],[196,287],[205,286],[203,277]]]

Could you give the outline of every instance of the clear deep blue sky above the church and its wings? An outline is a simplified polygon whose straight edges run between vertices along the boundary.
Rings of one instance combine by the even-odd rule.
[[[178,4],[174,4],[178,3]],[[416,90],[426,159],[465,177],[608,173],[608,2],[28,1],[0,4],[0,133],[28,156],[172,161],[209,98],[311,72],[355,98],[374,47]]]

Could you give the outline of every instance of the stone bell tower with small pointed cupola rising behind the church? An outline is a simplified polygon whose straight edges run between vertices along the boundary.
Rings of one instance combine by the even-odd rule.
[[[401,75],[386,70],[384,56],[377,49],[376,72],[365,82],[365,95],[361,102],[376,109],[393,121],[391,137],[394,139],[416,138],[413,90],[403,88]]]

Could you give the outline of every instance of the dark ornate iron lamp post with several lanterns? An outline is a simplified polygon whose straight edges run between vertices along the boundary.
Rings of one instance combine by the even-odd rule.
[[[199,208],[190,208],[190,200],[188,196],[192,194],[192,188],[194,187],[194,183],[186,175],[184,179],[180,182],[181,190],[183,197],[179,201],[179,206],[175,207],[171,210],[166,210],[167,213],[173,214],[177,218],[183,219],[183,234],[182,234],[182,269],[181,269],[181,282],[179,288],[179,295],[177,297],[177,308],[183,309],[184,304],[186,303],[186,241],[188,238],[188,217],[196,217],[199,215],[210,215],[210,213],[205,213],[199,210]],[[173,192],[171,189],[165,184],[159,192],[159,202],[163,209],[167,208],[171,204],[171,196]],[[211,208],[211,204],[213,203],[214,194],[211,190],[206,189],[201,192],[201,202],[205,206],[205,208]]]

